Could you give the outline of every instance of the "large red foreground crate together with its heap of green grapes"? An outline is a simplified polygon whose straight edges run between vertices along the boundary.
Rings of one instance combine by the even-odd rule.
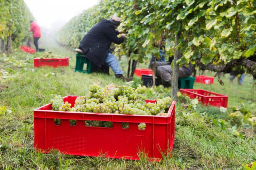
[[[145,91],[140,85],[93,84],[86,96],[55,96],[34,110],[34,146],[81,156],[170,157],[175,102],[170,97],[146,100]]]

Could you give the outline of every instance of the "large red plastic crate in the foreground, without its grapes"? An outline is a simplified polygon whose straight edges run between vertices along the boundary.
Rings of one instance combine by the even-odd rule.
[[[74,106],[76,97],[63,99]],[[137,153],[143,150],[150,160],[159,160],[161,152],[170,153],[174,144],[175,103],[167,116],[52,111],[47,104],[34,109],[34,147],[44,153],[57,149],[70,155],[105,154],[133,160],[138,160]],[[55,125],[54,118],[61,119],[61,125]],[[69,124],[70,119],[76,120],[76,126]],[[85,120],[111,121],[113,127],[87,127]],[[128,122],[129,129],[122,129],[122,122]],[[138,123],[146,123],[146,129],[139,130]]]

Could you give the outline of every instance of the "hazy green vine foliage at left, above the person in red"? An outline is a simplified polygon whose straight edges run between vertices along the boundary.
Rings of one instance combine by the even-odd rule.
[[[0,40],[11,37],[14,47],[30,39],[30,20],[34,17],[24,0],[0,0]]]

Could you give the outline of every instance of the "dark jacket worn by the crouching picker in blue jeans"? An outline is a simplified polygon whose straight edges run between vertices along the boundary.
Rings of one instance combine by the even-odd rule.
[[[111,43],[121,44],[124,42],[124,37],[118,38],[118,34],[119,32],[115,30],[112,22],[101,20],[84,36],[79,49],[94,64],[101,67],[108,56]]]

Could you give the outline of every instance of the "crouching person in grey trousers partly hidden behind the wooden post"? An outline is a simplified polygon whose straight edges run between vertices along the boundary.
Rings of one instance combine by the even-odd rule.
[[[163,82],[167,87],[172,86],[172,63],[173,56],[169,57],[168,62],[156,62],[156,76]],[[153,67],[151,64],[151,67]],[[192,64],[189,63],[188,66],[183,65],[179,69],[179,78],[189,77],[192,74]]]

